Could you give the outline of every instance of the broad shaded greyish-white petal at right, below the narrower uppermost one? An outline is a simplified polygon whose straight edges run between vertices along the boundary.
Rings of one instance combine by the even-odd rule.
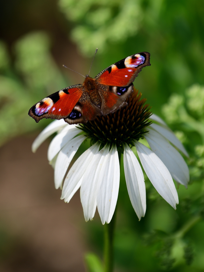
[[[187,188],[190,179],[189,170],[181,154],[162,135],[152,129],[144,137],[152,151],[166,165],[172,178]]]

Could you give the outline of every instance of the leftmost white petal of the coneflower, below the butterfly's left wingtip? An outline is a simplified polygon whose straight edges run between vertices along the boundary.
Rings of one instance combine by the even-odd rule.
[[[54,120],[51,122],[35,139],[32,144],[32,152],[35,153],[38,147],[53,133],[57,132],[59,129],[63,128],[64,126],[69,126],[64,119]]]

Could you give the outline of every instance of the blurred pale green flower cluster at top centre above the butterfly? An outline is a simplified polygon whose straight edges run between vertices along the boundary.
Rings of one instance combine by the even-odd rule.
[[[59,6],[66,18],[75,26],[71,37],[84,54],[101,52],[109,42],[122,42],[137,34],[144,16],[140,1],[122,0],[60,0]]]

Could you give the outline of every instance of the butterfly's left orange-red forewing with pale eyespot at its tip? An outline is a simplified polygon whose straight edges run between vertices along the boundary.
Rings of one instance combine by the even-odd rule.
[[[28,114],[37,123],[42,118],[65,119],[70,116],[71,119],[73,117],[80,119],[80,113],[73,111],[73,108],[79,101],[82,93],[81,84],[61,89],[36,103],[30,108]],[[76,116],[76,114],[79,116]]]

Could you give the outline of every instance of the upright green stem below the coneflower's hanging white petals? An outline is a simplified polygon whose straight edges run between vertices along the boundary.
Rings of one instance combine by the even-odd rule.
[[[104,225],[104,272],[113,271],[113,238],[116,221],[116,211],[109,224]]]

